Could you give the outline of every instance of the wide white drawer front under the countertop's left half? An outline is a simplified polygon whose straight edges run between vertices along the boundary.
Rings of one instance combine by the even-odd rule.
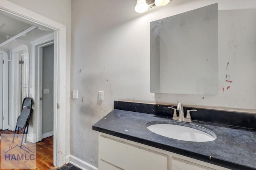
[[[105,136],[99,137],[99,160],[124,170],[168,170],[168,155]]]

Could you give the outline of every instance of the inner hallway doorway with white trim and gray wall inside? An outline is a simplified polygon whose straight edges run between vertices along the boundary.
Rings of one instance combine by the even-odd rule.
[[[35,53],[36,141],[54,135],[54,38],[52,34],[32,43]]]

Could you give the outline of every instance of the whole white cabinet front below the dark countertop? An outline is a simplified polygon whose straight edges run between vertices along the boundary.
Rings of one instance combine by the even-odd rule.
[[[108,134],[99,136],[99,170],[230,170]]]

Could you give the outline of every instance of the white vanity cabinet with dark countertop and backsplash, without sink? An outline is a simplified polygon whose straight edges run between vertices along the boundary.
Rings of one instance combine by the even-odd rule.
[[[114,110],[92,127],[99,131],[99,170],[256,169],[255,114],[198,109],[191,123],[182,123],[172,120],[173,113],[167,105],[115,101]],[[168,138],[147,128],[154,124],[199,127],[216,139]]]

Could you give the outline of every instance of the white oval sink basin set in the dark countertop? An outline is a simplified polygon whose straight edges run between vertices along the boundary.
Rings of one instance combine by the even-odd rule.
[[[214,134],[212,131],[203,127],[199,127],[197,125],[192,126],[200,130],[196,128],[173,124],[155,124],[150,125],[147,128],[156,134],[160,134],[162,136],[177,140],[185,140],[191,142],[208,142],[216,139],[216,134]]]

